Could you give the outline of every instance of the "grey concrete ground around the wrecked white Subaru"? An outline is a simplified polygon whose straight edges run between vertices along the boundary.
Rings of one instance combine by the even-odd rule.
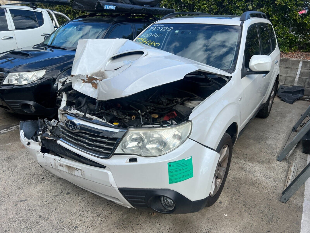
[[[114,204],[44,170],[20,143],[19,130],[7,131],[20,117],[0,110],[0,231],[300,232],[304,186],[286,204],[279,198],[290,161],[297,160],[300,171],[307,155],[298,145],[288,160],[276,158],[308,105],[276,98],[267,119],[250,123],[234,147],[224,190],[213,206],[155,216]]]

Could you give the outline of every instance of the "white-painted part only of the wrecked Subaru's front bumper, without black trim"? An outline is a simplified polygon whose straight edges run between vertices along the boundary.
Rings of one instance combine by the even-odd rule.
[[[20,140],[33,158],[45,169],[49,171],[54,170],[53,173],[57,176],[69,180],[83,188],[86,187],[87,190],[93,193],[97,192],[96,194],[99,193],[98,189],[95,185],[89,185],[89,183],[95,182],[100,185],[115,188],[167,188],[183,194],[192,201],[200,200],[209,195],[209,190],[212,184],[211,178],[213,177],[211,171],[215,170],[217,165],[216,161],[219,159],[218,153],[191,139],[186,140],[181,146],[174,151],[167,153],[165,156],[145,158],[136,155],[115,155],[109,159],[95,158],[87,153],[83,153],[70,147],[68,144],[58,141],[61,146],[106,166],[105,169],[101,169],[53,156],[48,153],[42,153],[40,152],[41,146],[38,142],[27,139],[22,130],[20,131]],[[29,143],[30,146],[27,145]],[[46,156],[48,156],[48,158],[46,158]],[[182,182],[169,184],[167,163],[188,158],[190,156],[193,158],[194,176]],[[137,158],[138,160],[135,163],[127,163],[126,161],[129,158]],[[63,166],[61,167],[60,165]],[[65,166],[72,168],[67,168]],[[104,175],[100,178],[91,177],[89,173],[95,172],[101,172]],[[141,176],[142,174],[145,175]],[[87,181],[82,181],[82,179],[77,178],[77,176],[86,179]],[[186,188],[184,188],[184,185],[186,185]],[[201,189],[201,187],[204,188]],[[192,191],[200,189],[201,191],[199,192]],[[118,200],[121,200],[123,205],[131,207],[128,202],[124,202],[124,200],[122,200],[116,193],[112,194],[110,190],[101,191],[101,194],[117,198]],[[102,196],[105,197],[104,195]],[[115,199],[107,199],[118,203]]]

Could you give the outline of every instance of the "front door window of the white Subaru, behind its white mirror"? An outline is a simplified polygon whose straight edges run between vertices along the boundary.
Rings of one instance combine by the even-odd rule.
[[[246,35],[246,47],[244,49],[245,65],[249,67],[250,59],[253,55],[259,55],[259,39],[256,26],[252,26],[248,29]]]

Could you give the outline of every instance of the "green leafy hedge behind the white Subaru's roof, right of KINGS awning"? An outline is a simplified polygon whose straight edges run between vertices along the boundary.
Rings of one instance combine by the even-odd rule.
[[[241,15],[245,11],[266,13],[277,34],[280,50],[310,51],[310,11],[298,14],[308,3],[302,0],[163,0],[162,7],[176,11],[200,11],[212,15]]]

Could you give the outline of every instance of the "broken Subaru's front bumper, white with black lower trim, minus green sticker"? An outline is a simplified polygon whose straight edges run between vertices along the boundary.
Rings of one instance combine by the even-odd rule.
[[[103,159],[61,140],[56,142],[59,147],[100,164],[100,167],[44,150],[39,142],[29,137],[32,134],[29,130],[36,130],[33,129],[38,125],[36,122],[21,122],[20,140],[33,158],[56,176],[128,208],[151,208],[157,212],[179,214],[197,212],[206,205],[219,154],[191,139],[174,151],[153,158],[113,155]],[[169,184],[168,163],[188,157],[192,157],[193,177]],[[130,158],[135,158],[136,162],[129,162]],[[168,212],[158,208],[160,196],[172,199],[175,208]]]

